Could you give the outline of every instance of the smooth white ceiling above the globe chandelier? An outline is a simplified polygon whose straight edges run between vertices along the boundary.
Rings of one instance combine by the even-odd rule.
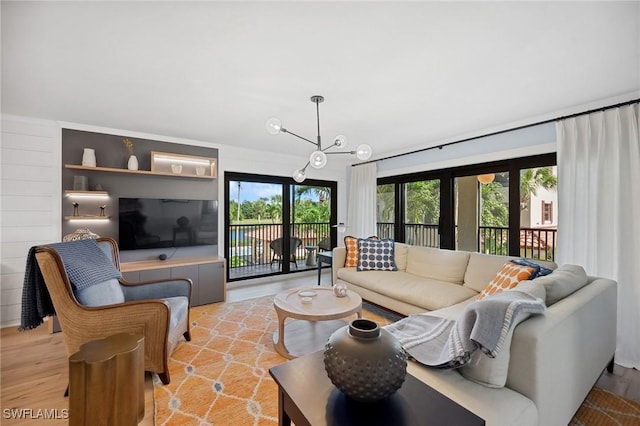
[[[640,89],[639,2],[2,2],[2,112],[374,158]],[[549,117],[552,118],[552,117]]]

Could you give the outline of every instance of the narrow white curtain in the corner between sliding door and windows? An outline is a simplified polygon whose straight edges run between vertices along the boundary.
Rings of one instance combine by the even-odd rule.
[[[351,168],[346,235],[367,238],[376,235],[376,163]]]

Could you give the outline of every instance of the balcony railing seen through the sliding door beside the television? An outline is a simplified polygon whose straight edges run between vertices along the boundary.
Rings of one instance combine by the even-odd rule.
[[[330,249],[329,223],[292,223],[289,225],[293,237],[302,240],[295,250],[295,259],[305,259],[305,246],[316,246]],[[246,268],[257,265],[268,265],[273,259],[274,251],[269,244],[282,237],[282,224],[252,224],[229,226],[229,267]],[[284,261],[287,256],[284,256]]]

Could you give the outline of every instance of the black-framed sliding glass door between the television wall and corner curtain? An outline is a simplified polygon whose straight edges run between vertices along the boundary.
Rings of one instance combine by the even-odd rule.
[[[316,268],[335,247],[335,182],[225,174],[228,281]]]

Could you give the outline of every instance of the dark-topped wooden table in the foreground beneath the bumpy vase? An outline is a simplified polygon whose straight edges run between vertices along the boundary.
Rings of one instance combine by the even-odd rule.
[[[402,387],[375,403],[358,403],[327,377],[322,351],[269,369],[278,384],[280,426],[484,425],[466,408],[407,374]]]

